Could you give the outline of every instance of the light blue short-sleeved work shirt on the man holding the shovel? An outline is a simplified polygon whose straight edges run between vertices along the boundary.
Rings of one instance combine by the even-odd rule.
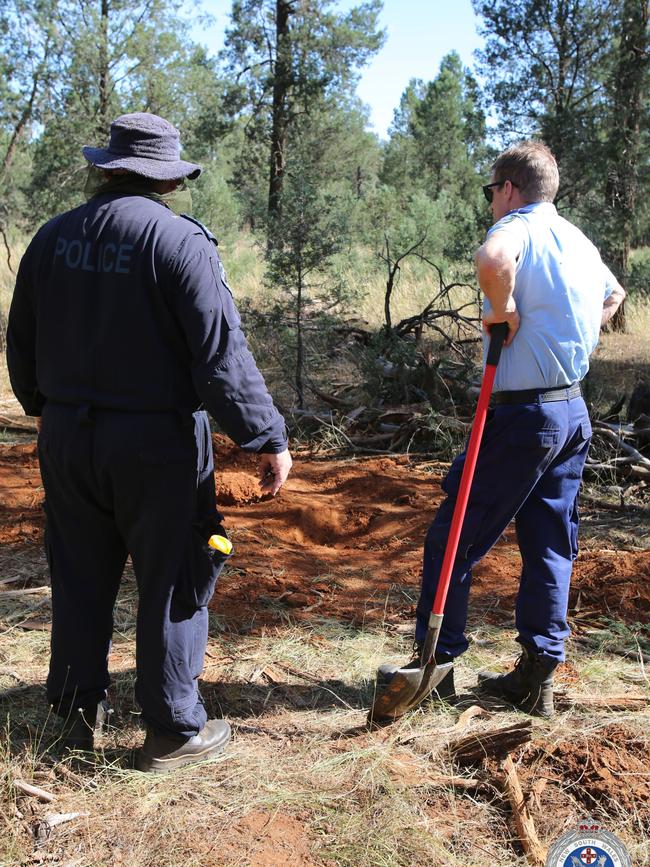
[[[513,297],[521,325],[501,353],[494,391],[579,382],[598,343],[603,302],[617,285],[600,253],[550,202],[511,211],[488,231],[520,243]],[[484,299],[489,311],[490,302]],[[484,337],[487,352],[488,338]]]

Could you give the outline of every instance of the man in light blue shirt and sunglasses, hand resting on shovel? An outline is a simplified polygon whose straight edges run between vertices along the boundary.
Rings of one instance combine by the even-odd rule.
[[[580,381],[601,325],[625,296],[598,250],[558,215],[552,204],[558,185],[550,150],[523,142],[497,158],[483,188],[494,219],[476,254],[486,345],[491,325],[507,322],[509,332],[436,650],[441,664],[467,649],[472,566],[514,518],[522,558],[516,606],[522,653],[508,674],[479,674],[479,686],[543,717],[553,714],[553,671],[564,660],[569,635],[578,490],[591,438]],[[464,461],[461,454],[452,463],[442,484],[447,498],[427,533],[416,648],[409,663],[415,668],[429,661],[421,658],[422,647]],[[380,678],[390,679],[396,669],[382,666]],[[453,668],[434,697],[455,697]]]

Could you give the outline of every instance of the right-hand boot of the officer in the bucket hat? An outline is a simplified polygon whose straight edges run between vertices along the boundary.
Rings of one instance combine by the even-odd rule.
[[[218,755],[229,741],[230,726],[223,719],[209,719],[191,738],[162,734],[148,726],[144,744],[136,753],[135,766],[139,771],[167,774]]]

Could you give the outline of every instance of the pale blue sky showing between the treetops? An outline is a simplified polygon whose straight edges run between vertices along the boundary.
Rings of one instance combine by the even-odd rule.
[[[338,6],[346,10],[357,2],[339,0]],[[204,0],[202,5],[214,17],[214,25],[197,28],[192,35],[216,53],[223,45],[231,2]],[[373,129],[385,138],[409,80],[430,81],[442,58],[453,50],[471,66],[473,51],[482,40],[470,0],[384,0],[381,24],[386,29],[386,42],[363,70],[358,94],[370,106]]]

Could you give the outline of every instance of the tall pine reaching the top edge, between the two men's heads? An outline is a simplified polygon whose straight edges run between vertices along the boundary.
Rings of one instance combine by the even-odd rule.
[[[236,84],[228,95],[234,118],[245,118],[249,152],[242,165],[261,169],[266,152],[266,208],[281,208],[292,130],[325,100],[345,103],[357,70],[379,49],[380,0],[332,11],[332,0],[234,0],[224,60]]]

